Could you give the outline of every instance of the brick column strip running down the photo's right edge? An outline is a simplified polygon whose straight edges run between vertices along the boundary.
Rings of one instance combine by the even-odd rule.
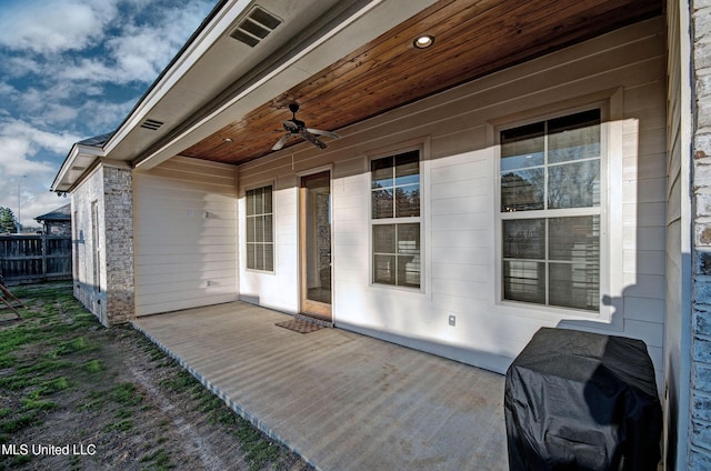
[[[711,469],[711,0],[691,9],[694,273],[689,469]]]

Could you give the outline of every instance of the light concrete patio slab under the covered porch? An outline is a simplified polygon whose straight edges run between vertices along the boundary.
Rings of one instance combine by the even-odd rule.
[[[133,325],[320,470],[505,470],[504,377],[234,302]]]

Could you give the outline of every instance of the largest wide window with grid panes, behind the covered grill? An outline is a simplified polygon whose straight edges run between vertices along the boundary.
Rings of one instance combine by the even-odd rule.
[[[502,300],[599,312],[601,110],[499,139]]]

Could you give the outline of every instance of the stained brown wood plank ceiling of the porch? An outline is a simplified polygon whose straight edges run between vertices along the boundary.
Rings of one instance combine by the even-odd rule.
[[[661,13],[659,0],[441,0],[180,154],[243,163],[271,152],[289,103],[309,128],[336,131]],[[423,33],[434,44],[415,49]]]

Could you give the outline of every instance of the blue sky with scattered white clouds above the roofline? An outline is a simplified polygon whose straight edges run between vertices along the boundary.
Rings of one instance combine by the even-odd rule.
[[[74,142],[114,131],[217,0],[0,0],[0,207],[23,227]]]

